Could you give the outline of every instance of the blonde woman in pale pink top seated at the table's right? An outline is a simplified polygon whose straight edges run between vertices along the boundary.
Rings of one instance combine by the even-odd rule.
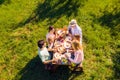
[[[68,55],[65,55],[65,56],[68,58],[68,60],[71,62],[71,64],[75,64],[74,67],[78,67],[79,65],[81,65],[81,67],[82,67],[84,54],[83,54],[83,48],[82,48],[80,42],[77,40],[73,41],[72,48],[74,50],[74,52],[73,52],[74,57],[71,58]]]

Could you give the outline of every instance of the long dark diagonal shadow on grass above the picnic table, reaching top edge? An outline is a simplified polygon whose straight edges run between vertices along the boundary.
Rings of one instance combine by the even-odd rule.
[[[79,7],[83,6],[85,0],[45,0],[38,3],[37,8],[25,21],[20,22],[17,27],[24,26],[28,23],[42,22],[48,19],[48,25],[55,23],[59,18],[77,16]]]

